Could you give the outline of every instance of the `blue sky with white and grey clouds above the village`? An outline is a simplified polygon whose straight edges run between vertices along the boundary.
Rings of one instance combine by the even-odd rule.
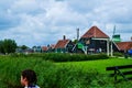
[[[132,36],[132,0],[0,0],[0,40],[45,46],[81,36],[96,25],[111,37]]]

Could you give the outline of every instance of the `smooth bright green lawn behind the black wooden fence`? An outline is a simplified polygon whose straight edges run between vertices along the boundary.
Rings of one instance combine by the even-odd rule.
[[[131,65],[132,59],[125,58],[109,58],[99,61],[87,61],[87,62],[68,62],[68,63],[56,63],[58,66],[73,66],[85,72],[97,70],[101,74],[106,74],[106,67],[118,66],[118,65]]]

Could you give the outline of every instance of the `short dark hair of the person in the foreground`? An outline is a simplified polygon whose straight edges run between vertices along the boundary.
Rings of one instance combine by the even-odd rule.
[[[22,77],[28,79],[29,86],[35,85],[37,81],[36,74],[32,69],[25,69],[22,72]]]

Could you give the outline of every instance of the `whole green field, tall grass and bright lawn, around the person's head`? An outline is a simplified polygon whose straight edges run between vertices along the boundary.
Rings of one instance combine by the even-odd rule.
[[[0,56],[0,88],[22,88],[20,76],[26,68],[36,72],[41,88],[114,88],[113,79],[109,81],[107,77],[106,67],[128,64],[132,64],[132,59],[54,63],[41,56]],[[128,82],[119,85],[119,88],[131,87]]]

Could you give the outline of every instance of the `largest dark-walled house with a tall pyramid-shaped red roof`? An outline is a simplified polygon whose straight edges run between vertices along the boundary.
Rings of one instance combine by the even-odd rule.
[[[86,53],[107,53],[109,52],[109,36],[100,29],[92,26],[80,37],[78,47]]]

